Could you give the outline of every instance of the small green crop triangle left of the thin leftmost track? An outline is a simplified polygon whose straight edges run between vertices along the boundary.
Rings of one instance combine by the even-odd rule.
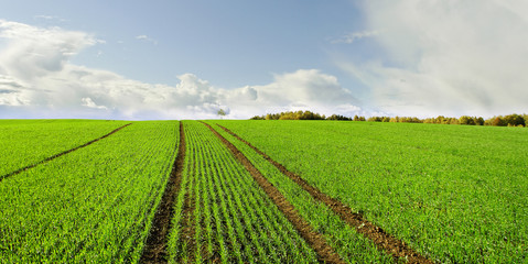
[[[0,120],[0,179],[126,124],[104,120]]]

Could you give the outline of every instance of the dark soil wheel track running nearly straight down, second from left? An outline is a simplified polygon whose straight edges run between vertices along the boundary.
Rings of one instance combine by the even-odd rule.
[[[166,243],[169,230],[171,228],[171,219],[174,215],[174,199],[176,198],[180,186],[182,185],[182,172],[185,161],[185,134],[183,131],[183,123],[180,121],[180,144],[177,148],[176,160],[172,166],[171,175],[165,186],[160,205],[154,213],[152,227],[150,229],[149,238],[143,249],[140,263],[166,263]],[[185,196],[185,205],[187,204],[187,196]],[[187,210],[188,211],[188,208]],[[185,229],[184,229],[185,233]]]

